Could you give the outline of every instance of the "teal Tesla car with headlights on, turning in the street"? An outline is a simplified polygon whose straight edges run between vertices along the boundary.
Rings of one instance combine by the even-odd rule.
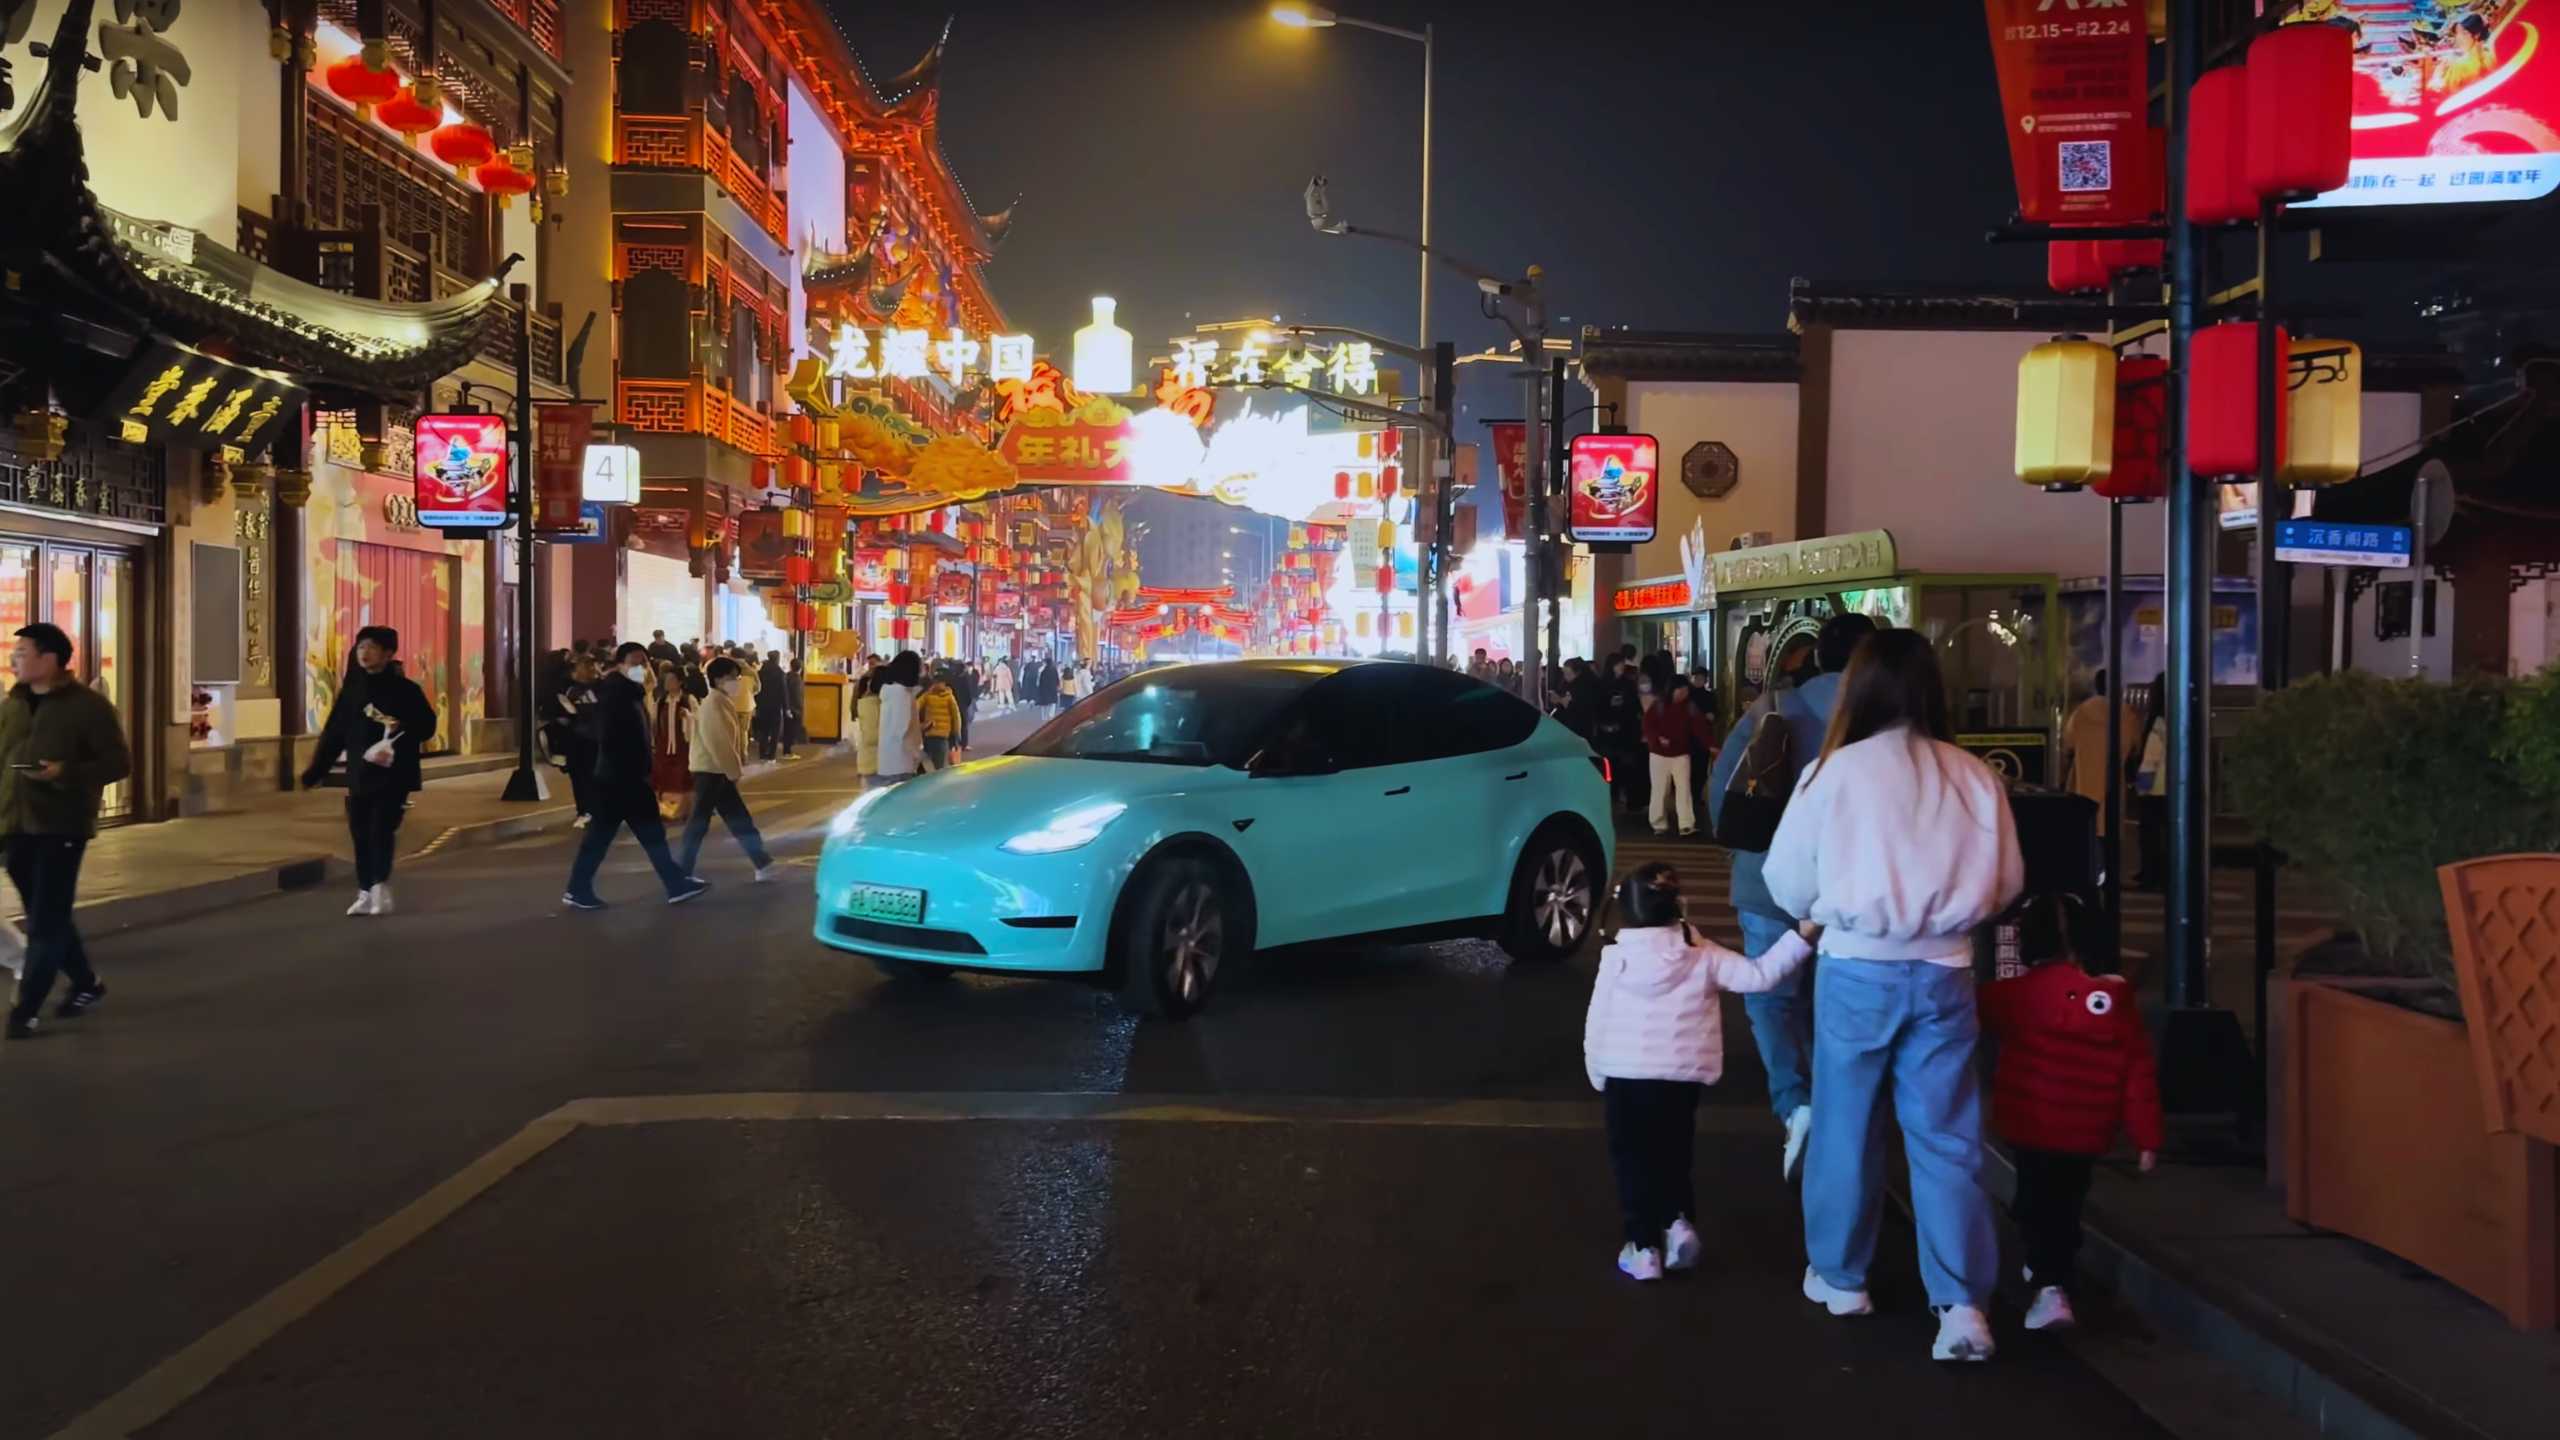
[[[1613,843],[1590,746],[1490,684],[1175,666],[847,805],[817,938],[893,979],[1073,976],[1185,1017],[1257,948],[1492,935],[1556,961],[1590,935]]]

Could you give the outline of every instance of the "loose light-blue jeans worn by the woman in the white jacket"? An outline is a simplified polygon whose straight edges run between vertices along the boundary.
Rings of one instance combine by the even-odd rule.
[[[1999,1281],[1999,1240],[1981,1191],[1974,971],[1823,956],[1812,1030],[1805,1258],[1833,1286],[1866,1289],[1884,1199],[1874,1125],[1892,1097],[1928,1302],[1984,1304]]]

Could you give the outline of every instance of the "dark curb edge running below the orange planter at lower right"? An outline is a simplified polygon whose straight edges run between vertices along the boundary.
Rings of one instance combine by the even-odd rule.
[[[1987,1186],[2007,1204],[2017,1189],[2017,1168],[1989,1145],[1984,1161]],[[2132,1232],[2092,1199],[2081,1268],[2145,1322],[2220,1361],[2314,1435],[2348,1440],[2481,1435],[2478,1427],[2406,1391],[2371,1363],[2291,1325],[2281,1309],[2122,1240]]]

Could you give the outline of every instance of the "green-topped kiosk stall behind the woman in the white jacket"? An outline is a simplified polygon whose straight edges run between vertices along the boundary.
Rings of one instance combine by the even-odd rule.
[[[1787,674],[1823,620],[1874,615],[1938,646],[1956,743],[2025,784],[2053,784],[2063,712],[2061,582],[1905,571],[1887,530],[1705,556],[1692,574],[1610,594],[1623,638],[1715,676],[1725,728]]]

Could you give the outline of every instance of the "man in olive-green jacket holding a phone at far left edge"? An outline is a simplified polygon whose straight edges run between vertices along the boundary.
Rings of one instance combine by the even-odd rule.
[[[115,705],[72,674],[72,638],[59,625],[18,630],[10,664],[18,684],[0,700],[0,843],[26,904],[26,971],[8,1038],[26,1040],[36,1035],[56,974],[72,979],[72,994],[54,1012],[59,1020],[87,1015],[108,997],[72,928],[72,902],[79,861],[97,835],[97,797],[133,774],[133,753]]]

